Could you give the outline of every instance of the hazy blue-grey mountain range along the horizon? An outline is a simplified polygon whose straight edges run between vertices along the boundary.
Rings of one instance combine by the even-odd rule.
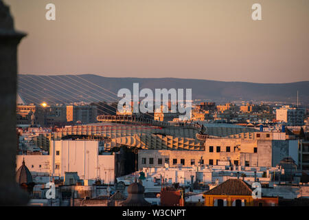
[[[133,83],[139,89],[175,88],[192,89],[192,98],[220,102],[277,101],[295,103],[297,90],[299,102],[309,104],[309,81],[297,83],[244,83],[183,78],[109,78],[94,74],[38,76],[19,74],[19,95],[27,103],[98,102],[115,101],[122,88],[133,93]]]

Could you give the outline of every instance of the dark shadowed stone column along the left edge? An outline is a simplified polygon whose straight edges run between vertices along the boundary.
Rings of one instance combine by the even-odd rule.
[[[16,184],[16,52],[25,36],[14,30],[8,6],[0,0],[0,206],[22,206],[27,193]]]

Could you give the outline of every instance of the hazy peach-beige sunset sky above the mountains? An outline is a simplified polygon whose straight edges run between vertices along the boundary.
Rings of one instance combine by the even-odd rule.
[[[308,0],[4,0],[19,74],[309,80]],[[45,5],[56,5],[56,21]],[[262,21],[251,6],[262,5]]]

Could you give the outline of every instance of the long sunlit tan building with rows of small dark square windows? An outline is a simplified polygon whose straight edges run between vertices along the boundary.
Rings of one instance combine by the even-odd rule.
[[[165,166],[219,165],[276,166],[284,157],[298,163],[296,140],[285,133],[255,132],[247,137],[214,137],[205,141],[205,151],[139,150],[139,168]]]

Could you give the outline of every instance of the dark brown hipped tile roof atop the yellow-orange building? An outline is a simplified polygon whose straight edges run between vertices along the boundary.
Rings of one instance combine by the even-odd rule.
[[[251,195],[252,189],[249,184],[241,179],[227,179],[219,186],[212,188],[204,195]]]

